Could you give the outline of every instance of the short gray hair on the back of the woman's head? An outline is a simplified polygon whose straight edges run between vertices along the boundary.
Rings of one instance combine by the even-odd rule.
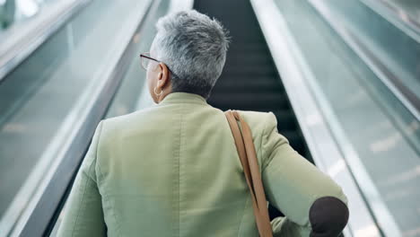
[[[229,44],[222,24],[195,10],[172,13],[156,23],[153,57],[171,72],[172,92],[210,96],[222,74]]]

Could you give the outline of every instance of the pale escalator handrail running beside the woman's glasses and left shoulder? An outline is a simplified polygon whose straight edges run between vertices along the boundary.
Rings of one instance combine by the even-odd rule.
[[[63,151],[59,152],[60,157],[57,157],[61,162],[57,165],[57,169],[51,171],[51,177],[43,180],[45,185],[37,190],[39,198],[31,199],[31,203],[27,205],[30,207],[19,216],[9,233],[10,236],[48,236],[52,230],[78,167],[90,145],[94,130],[104,118],[118,92],[119,84],[127,72],[127,66],[137,55],[134,48],[136,40],[133,38],[143,28],[148,15],[154,11],[152,8],[160,2],[148,0],[144,4],[144,9],[136,11],[136,21],[132,21],[136,23],[129,26],[122,34],[124,37],[118,41],[118,47],[114,50],[116,57],[112,57],[112,61],[109,62],[109,69],[98,75],[102,78],[102,83],[95,86],[97,90],[92,92],[92,100],[85,104],[79,122],[72,125],[75,132],[71,137],[67,137],[69,142],[64,145]]]

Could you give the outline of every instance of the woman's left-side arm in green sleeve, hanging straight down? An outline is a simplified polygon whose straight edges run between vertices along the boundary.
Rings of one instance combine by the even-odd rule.
[[[101,135],[98,125],[66,203],[57,236],[106,236],[101,194],[96,183],[96,150]]]

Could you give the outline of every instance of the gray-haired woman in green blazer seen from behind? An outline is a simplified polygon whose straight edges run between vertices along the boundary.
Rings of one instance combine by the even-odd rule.
[[[206,99],[228,40],[196,11],[157,23],[142,56],[157,104],[101,121],[58,236],[257,236],[249,190],[222,110]],[[337,236],[346,196],[277,133],[273,113],[241,111],[252,136],[276,236]]]

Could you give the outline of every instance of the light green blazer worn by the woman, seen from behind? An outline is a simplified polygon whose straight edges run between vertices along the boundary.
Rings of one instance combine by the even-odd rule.
[[[309,210],[336,182],[278,134],[273,113],[249,123],[267,200],[286,217],[277,236],[309,236]],[[281,121],[280,121],[281,122]],[[249,189],[222,110],[193,93],[102,120],[68,198],[58,236],[258,236]]]

